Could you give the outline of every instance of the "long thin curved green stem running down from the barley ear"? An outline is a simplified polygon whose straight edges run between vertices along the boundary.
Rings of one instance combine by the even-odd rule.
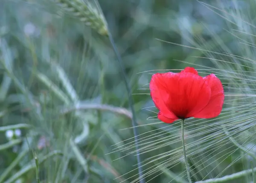
[[[139,173],[139,177],[140,177],[140,183],[145,183],[145,180],[143,179],[143,171],[142,171],[142,166],[141,166],[141,161],[140,161],[140,151],[139,151],[139,147],[138,147],[138,143],[139,143],[139,139],[138,139],[138,131],[137,131],[137,120],[136,120],[136,116],[135,116],[135,110],[134,110],[134,102],[133,102],[133,99],[132,99],[132,96],[131,96],[131,87],[128,83],[128,79],[127,79],[127,76],[126,76],[126,73],[125,73],[125,69],[124,69],[124,66],[122,64],[122,58],[116,48],[116,44],[113,40],[113,37],[111,35],[111,33],[109,33],[109,41],[111,42],[111,45],[113,47],[113,50],[116,54],[116,58],[117,58],[117,61],[119,63],[119,66],[121,68],[121,71],[122,71],[122,77],[124,79],[124,82],[125,82],[125,87],[126,87],[126,90],[128,92],[128,102],[129,102],[129,105],[130,105],[130,108],[131,108],[131,113],[132,113],[132,126],[133,126],[133,132],[134,132],[134,140],[135,140],[135,146],[136,146],[136,157],[137,157],[137,166],[138,166],[138,173]]]

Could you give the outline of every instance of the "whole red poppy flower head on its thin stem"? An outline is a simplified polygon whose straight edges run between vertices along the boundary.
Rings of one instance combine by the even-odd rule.
[[[156,73],[149,88],[159,109],[157,117],[166,123],[189,117],[214,118],[224,103],[221,81],[214,74],[201,77],[192,67],[180,73]]]

